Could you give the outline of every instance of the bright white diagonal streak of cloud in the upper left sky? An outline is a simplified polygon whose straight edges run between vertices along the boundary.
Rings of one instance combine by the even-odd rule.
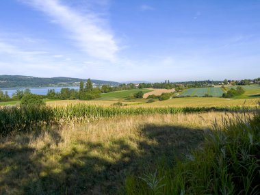
[[[22,0],[51,18],[70,33],[77,46],[90,57],[113,61],[119,50],[112,32],[94,13],[80,14],[58,0]]]

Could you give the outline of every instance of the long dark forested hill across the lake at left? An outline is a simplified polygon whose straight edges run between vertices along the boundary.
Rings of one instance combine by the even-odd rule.
[[[21,75],[0,75],[0,88],[16,88],[16,87],[47,87],[47,86],[79,86],[80,81],[87,81],[87,79],[77,79],[69,77],[29,77]],[[96,85],[107,84],[110,86],[117,86],[120,83],[114,81],[101,81],[91,79],[92,83]]]

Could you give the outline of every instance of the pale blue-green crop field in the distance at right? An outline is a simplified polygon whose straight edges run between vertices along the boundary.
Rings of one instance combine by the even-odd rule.
[[[185,90],[181,96],[204,96],[209,94],[214,97],[222,96],[224,91],[222,88],[190,88]]]

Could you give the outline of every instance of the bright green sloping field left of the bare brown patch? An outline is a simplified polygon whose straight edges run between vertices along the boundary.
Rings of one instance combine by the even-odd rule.
[[[117,92],[109,92],[109,93],[103,93],[101,94],[101,98],[96,100],[120,100],[125,99],[127,96],[131,96],[139,91],[142,91],[144,93],[152,92],[153,90],[147,90],[147,89],[135,89],[135,90],[123,90],[123,91],[117,91]]]

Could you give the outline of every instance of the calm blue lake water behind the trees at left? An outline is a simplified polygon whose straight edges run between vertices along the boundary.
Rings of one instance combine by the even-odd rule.
[[[55,90],[55,92],[60,92],[62,88],[70,88],[79,90],[79,86],[64,86],[64,87],[45,87],[45,88],[29,88],[31,93],[38,94],[38,95],[47,95],[48,90]],[[12,96],[16,90],[25,90],[26,88],[1,88],[3,92],[8,92],[9,96]]]

